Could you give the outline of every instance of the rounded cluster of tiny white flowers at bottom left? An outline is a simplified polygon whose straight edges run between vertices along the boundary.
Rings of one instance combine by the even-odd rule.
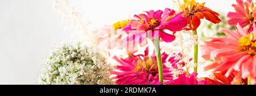
[[[48,56],[39,84],[113,84],[110,69],[112,66],[96,49],[67,43]]]

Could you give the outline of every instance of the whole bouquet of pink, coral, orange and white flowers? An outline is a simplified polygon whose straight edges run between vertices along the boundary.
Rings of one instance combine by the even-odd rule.
[[[65,2],[86,39],[53,51],[39,84],[256,83],[256,3],[251,0],[237,0],[235,12],[227,16],[205,2],[174,1],[170,3],[179,6],[176,10],[148,10],[92,30],[67,1],[59,2]],[[214,34],[205,37],[209,32]]]

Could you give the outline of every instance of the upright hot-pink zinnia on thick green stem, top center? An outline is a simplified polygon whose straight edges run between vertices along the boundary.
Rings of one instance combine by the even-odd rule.
[[[141,46],[146,45],[147,37],[154,40],[160,37],[165,42],[172,42],[175,36],[164,32],[164,29],[176,32],[187,26],[187,20],[181,17],[181,14],[175,15],[175,11],[166,8],[162,10],[146,11],[146,14],[134,15],[134,20],[128,24],[123,30],[129,33],[129,36],[123,40],[125,45],[129,45],[129,41],[137,43]]]

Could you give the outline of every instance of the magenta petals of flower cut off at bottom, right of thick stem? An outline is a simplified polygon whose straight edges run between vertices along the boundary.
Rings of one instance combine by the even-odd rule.
[[[199,80],[197,73],[193,72],[190,76],[187,76],[186,73],[180,75],[175,80],[171,80],[166,83],[166,85],[209,85],[207,80]]]

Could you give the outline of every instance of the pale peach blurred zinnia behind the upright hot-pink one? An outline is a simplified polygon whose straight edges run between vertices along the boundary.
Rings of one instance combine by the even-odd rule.
[[[96,34],[96,44],[101,47],[107,47],[108,49],[123,49],[122,39],[127,36],[127,33],[122,31],[122,28],[129,23],[130,20],[122,20],[112,26],[106,25],[104,28],[99,30],[98,34]],[[133,54],[138,50],[138,48],[137,46],[132,46],[126,50],[129,54]]]

